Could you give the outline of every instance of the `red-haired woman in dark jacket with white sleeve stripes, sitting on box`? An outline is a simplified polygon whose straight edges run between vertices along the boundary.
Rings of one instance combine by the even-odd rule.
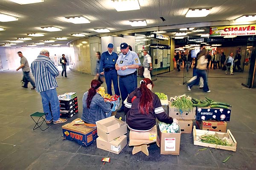
[[[158,96],[151,92],[151,79],[140,81],[140,88],[136,88],[125,104],[126,122],[130,130],[147,132],[156,125],[156,118],[160,122],[172,124],[177,119],[167,116]]]

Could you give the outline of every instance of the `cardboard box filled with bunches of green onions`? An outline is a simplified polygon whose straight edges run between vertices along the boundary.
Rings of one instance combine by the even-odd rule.
[[[169,116],[175,119],[195,119],[195,108],[191,99],[190,96],[185,94],[170,97]]]

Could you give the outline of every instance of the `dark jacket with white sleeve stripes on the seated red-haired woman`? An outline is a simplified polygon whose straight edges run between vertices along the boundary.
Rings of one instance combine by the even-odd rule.
[[[127,103],[125,104],[125,114],[126,114],[126,122],[129,127],[135,130],[149,130],[156,124],[156,119],[160,122],[165,122],[172,124],[172,117],[167,116],[163,107],[161,105],[160,99],[154,93],[153,96],[153,106],[154,110],[149,111],[148,114],[139,113],[139,102],[141,91],[140,88],[136,88],[127,99]],[[131,99],[136,96],[136,98],[131,102]]]

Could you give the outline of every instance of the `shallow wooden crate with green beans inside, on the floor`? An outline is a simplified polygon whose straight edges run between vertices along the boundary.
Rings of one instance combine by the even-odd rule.
[[[227,133],[223,133],[198,130],[194,126],[193,139],[194,145],[236,151],[237,142],[230,130],[227,130]]]

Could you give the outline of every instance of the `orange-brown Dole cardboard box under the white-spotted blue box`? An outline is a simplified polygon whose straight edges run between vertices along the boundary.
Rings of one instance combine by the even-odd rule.
[[[226,132],[227,122],[219,122],[215,120],[197,120],[196,125],[201,130],[211,130],[215,132]]]

